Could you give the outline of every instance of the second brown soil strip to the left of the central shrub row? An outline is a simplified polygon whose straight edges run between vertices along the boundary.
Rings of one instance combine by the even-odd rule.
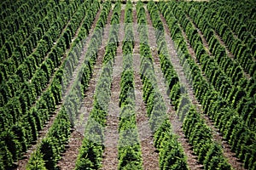
[[[98,13],[98,17],[99,17]],[[108,20],[107,20],[107,28],[111,20],[111,15],[113,14],[113,11],[111,10],[110,13],[108,14]],[[98,18],[97,18],[98,19]],[[94,23],[94,27],[96,26],[96,20]],[[92,28],[94,28],[92,27]],[[92,30],[93,31],[93,30]],[[92,34],[90,34],[92,35]],[[108,35],[109,35],[109,30],[104,29],[104,35],[102,37],[102,45],[98,50],[98,57],[96,59],[96,65],[94,66],[94,71],[92,78],[90,80],[90,85],[87,91],[85,92],[85,98],[83,100],[82,107],[86,108],[86,111],[83,111],[79,117],[83,116],[83,123],[81,124],[82,126],[77,126],[73,133],[71,133],[71,138],[69,140],[69,143],[67,144],[68,149],[65,151],[63,156],[61,157],[61,160],[58,162],[58,167],[63,170],[69,170],[69,169],[74,169],[75,167],[75,162],[77,159],[77,156],[79,155],[79,148],[82,145],[83,139],[84,139],[84,125],[86,124],[89,113],[92,110],[93,107],[93,96],[96,88],[96,82],[99,77],[99,73],[102,68],[102,61],[103,61],[103,56],[105,54],[105,47],[108,42]],[[90,42],[90,40],[88,41]],[[86,53],[87,50],[84,50],[84,54]],[[73,137],[78,136],[78,138],[73,139]]]

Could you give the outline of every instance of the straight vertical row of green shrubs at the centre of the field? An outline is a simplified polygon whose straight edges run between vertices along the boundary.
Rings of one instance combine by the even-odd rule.
[[[125,5],[125,38],[123,42],[123,72],[120,82],[119,106],[119,165],[118,169],[143,169],[141,146],[139,144],[135,108],[135,84],[132,51],[134,37],[132,30],[132,4]]]

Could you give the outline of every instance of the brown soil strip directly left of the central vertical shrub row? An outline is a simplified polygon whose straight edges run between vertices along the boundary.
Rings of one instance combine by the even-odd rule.
[[[117,56],[113,65],[113,82],[111,86],[111,100],[108,106],[107,127],[105,128],[105,150],[103,153],[102,169],[117,169],[118,160],[118,141],[119,141],[119,94],[120,80],[123,64],[122,40],[124,38],[124,18],[125,10],[121,10],[120,27],[119,27],[119,46],[117,48]]]

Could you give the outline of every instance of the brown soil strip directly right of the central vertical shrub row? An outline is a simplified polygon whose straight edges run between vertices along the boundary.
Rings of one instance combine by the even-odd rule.
[[[137,112],[137,128],[141,142],[143,169],[157,170],[159,167],[159,154],[154,148],[153,133],[150,130],[147,109],[143,101],[143,82],[140,78],[140,40],[137,32],[137,13],[133,10],[133,25],[135,46],[133,49],[133,68],[135,76],[135,98]]]

